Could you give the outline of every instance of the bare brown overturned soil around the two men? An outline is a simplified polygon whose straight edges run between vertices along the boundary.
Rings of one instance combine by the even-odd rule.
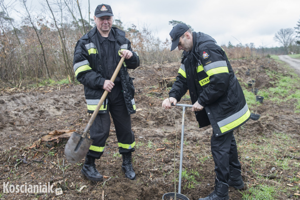
[[[254,77],[256,88],[276,86],[277,80],[272,80],[265,73],[266,69],[285,73],[279,64],[269,58],[231,63],[241,85],[248,91],[251,88],[247,87],[247,82]],[[147,200],[162,199],[165,193],[174,192],[174,149],[177,142],[175,170],[178,189],[182,107],[173,107],[173,112],[161,107],[167,94],[165,88],[159,88],[158,81],[164,76],[177,76],[179,66],[179,63],[167,63],[162,67],[154,64],[129,70],[130,76],[135,78],[137,107],[137,112],[131,115],[136,139],[133,165],[137,178],[134,181],[125,178],[122,172],[122,158],[118,153],[113,122],[104,154],[96,161],[98,171],[105,176],[103,182],[89,181],[81,174],[83,161],[75,164],[66,161],[64,146],[68,135],[59,135],[72,131],[82,133],[91,117],[87,114],[82,85],[1,89],[0,199]],[[245,73],[248,69],[251,75]],[[190,104],[188,96],[180,103]],[[300,141],[300,115],[294,112],[294,103],[288,101],[278,105],[265,100],[257,108],[250,107],[250,111],[260,114],[261,118],[258,121],[249,120],[235,130],[235,139],[237,142],[256,140],[262,133],[267,137],[272,132],[284,132]],[[214,162],[210,151],[212,129],[211,126],[199,129],[190,108],[186,109],[184,119],[182,168],[188,172],[198,172],[198,175],[195,173],[194,182],[182,179],[181,193],[192,200],[205,197],[214,190]],[[45,136],[49,137],[45,139]],[[240,161],[244,191],[247,191],[248,186],[256,184],[257,175],[247,164],[247,157],[240,155]],[[2,181],[15,186],[50,183],[53,191],[61,188],[63,194],[8,194],[3,192]],[[281,184],[287,183],[282,180]],[[278,199],[288,199],[292,193],[287,190],[287,194],[282,194]],[[242,199],[242,193],[229,187],[229,197],[232,200]]]

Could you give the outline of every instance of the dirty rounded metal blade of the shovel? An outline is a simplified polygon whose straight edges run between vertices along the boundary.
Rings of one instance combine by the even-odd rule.
[[[69,163],[77,163],[85,157],[93,143],[92,139],[74,132],[64,147],[64,155]]]

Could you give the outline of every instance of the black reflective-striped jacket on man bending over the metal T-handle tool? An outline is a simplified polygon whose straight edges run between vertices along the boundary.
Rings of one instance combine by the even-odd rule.
[[[204,107],[195,112],[199,127],[211,124],[216,136],[232,131],[250,118],[244,93],[224,50],[207,34],[193,32],[193,49],[183,52],[182,65],[169,93],[190,98]]]

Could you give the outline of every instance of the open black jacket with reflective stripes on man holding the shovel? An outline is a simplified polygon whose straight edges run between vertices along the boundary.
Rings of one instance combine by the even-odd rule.
[[[99,103],[101,96],[104,92],[103,84],[105,80],[109,80],[110,77],[106,77],[107,70],[103,61],[101,60],[100,44],[97,36],[97,26],[91,31],[82,36],[74,51],[73,68],[76,75],[76,79],[84,85],[85,99],[88,106],[88,112],[92,113]],[[111,34],[115,38],[115,60],[120,61],[119,50],[131,49],[131,42],[125,37],[125,32],[118,28],[112,27]],[[140,65],[140,59],[137,52],[133,52],[133,56],[130,59],[126,59],[119,71],[121,84],[123,88],[124,100],[128,110],[128,114],[135,113],[136,106],[134,102],[134,85],[133,78],[128,74],[127,69],[135,69]],[[117,66],[116,66],[117,67]],[[99,113],[106,113],[105,100],[101,106]]]

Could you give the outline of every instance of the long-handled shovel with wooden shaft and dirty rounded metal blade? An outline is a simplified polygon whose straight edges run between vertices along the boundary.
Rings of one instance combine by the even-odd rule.
[[[122,54],[122,51],[120,51]],[[124,57],[121,58],[115,72],[113,73],[112,78],[110,81],[114,82],[121,67],[124,62]],[[77,163],[81,159],[85,157],[85,155],[88,153],[88,150],[93,143],[93,140],[87,137],[88,131],[91,128],[91,125],[93,124],[99,109],[104,102],[106,96],[108,94],[108,91],[104,91],[104,93],[101,96],[101,99],[96,107],[96,109],[93,112],[93,115],[91,116],[90,121],[88,121],[88,124],[86,125],[84,131],[82,134],[79,134],[74,131],[74,133],[70,136],[66,146],[64,147],[64,156],[66,157],[67,161],[69,163]]]

